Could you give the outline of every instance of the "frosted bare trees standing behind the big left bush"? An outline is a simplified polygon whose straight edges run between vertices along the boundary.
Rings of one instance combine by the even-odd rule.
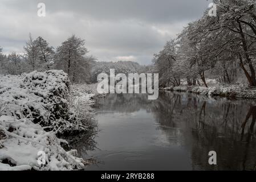
[[[30,34],[23,53],[12,52],[6,55],[0,48],[0,74],[21,75],[35,70],[62,69],[68,73],[72,82],[88,82],[90,65],[95,58],[87,54],[85,41],[75,35],[54,49],[42,37],[33,39]]]

